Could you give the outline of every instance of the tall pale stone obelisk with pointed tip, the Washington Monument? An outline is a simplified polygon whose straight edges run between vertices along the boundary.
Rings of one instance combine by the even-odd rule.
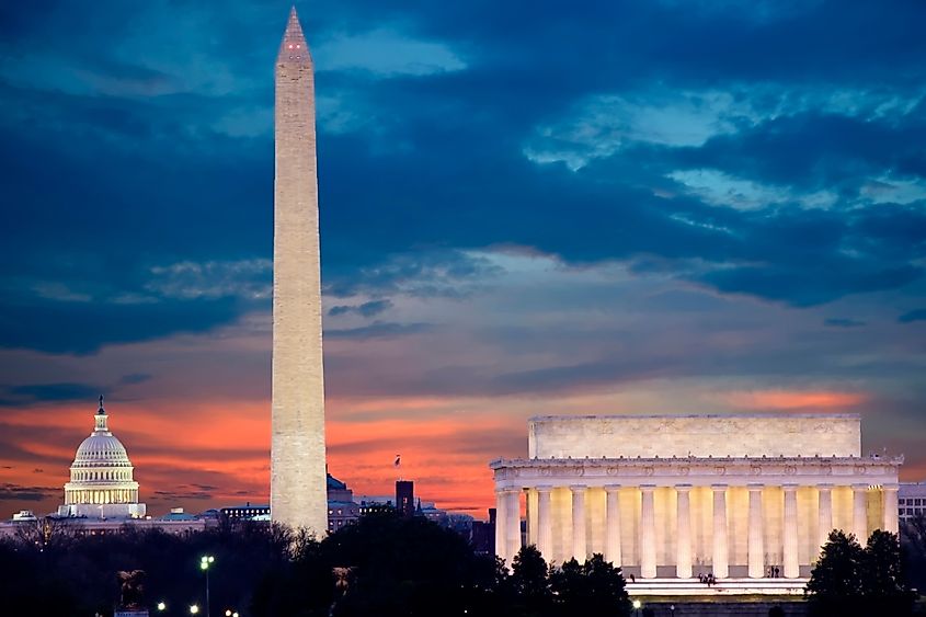
[[[271,517],[328,530],[312,58],[296,9],[276,58]]]

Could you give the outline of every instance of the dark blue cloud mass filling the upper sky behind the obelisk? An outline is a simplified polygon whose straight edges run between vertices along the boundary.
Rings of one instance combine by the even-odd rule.
[[[906,293],[926,253],[923,197],[869,190],[885,179],[926,186],[916,27],[926,8],[722,5],[299,7],[320,61],[325,290],[376,297],[415,278],[413,294],[453,296],[461,281],[492,275],[461,251],[521,245],[571,265],[653,260],[721,293],[796,307]],[[0,54],[12,60],[0,70],[2,346],[88,353],[267,306],[158,295],[152,268],[270,258],[268,113],[285,10],[135,11],[53,3],[37,19],[13,3],[0,13]],[[336,68],[332,41],[382,31],[442,45],[465,67]],[[685,92],[728,95],[732,115],[702,144],[624,135],[607,145],[587,130],[583,156],[594,156],[581,169],[525,155],[544,127],[588,128],[583,105],[602,96],[663,110],[647,117],[684,130],[664,110]],[[705,101],[698,114],[723,112]],[[698,169],[782,196],[744,212],[668,180]],[[821,192],[830,209],[804,207]],[[202,284],[221,276],[201,272]],[[58,293],[36,292],[49,287]]]

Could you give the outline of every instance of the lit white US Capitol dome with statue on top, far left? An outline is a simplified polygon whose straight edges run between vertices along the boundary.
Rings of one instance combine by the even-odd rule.
[[[138,503],[138,482],[133,479],[132,461],[108,427],[108,415],[100,409],[93,419],[93,433],[77,448],[71,480],[65,484],[65,504],[58,516],[88,518],[142,518],[145,504]]]

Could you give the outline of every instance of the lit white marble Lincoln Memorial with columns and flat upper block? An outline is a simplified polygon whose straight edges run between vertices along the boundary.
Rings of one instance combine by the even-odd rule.
[[[798,589],[832,529],[896,533],[902,462],[862,456],[853,414],[534,418],[528,458],[490,465],[496,553],[511,563],[525,512],[548,562],[599,552],[635,580]]]

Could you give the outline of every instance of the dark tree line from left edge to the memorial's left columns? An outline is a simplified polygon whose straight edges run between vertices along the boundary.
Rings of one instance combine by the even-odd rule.
[[[24,532],[0,541],[4,614],[108,617],[119,596],[116,572],[144,570],[152,617],[185,616],[191,604],[204,606],[204,555],[215,557],[213,616],[227,608],[241,617],[629,614],[620,570],[601,556],[551,569],[527,547],[510,572],[454,532],[389,513],[365,516],[322,541],[264,524],[186,536]],[[163,613],[155,608],[159,601]]]

